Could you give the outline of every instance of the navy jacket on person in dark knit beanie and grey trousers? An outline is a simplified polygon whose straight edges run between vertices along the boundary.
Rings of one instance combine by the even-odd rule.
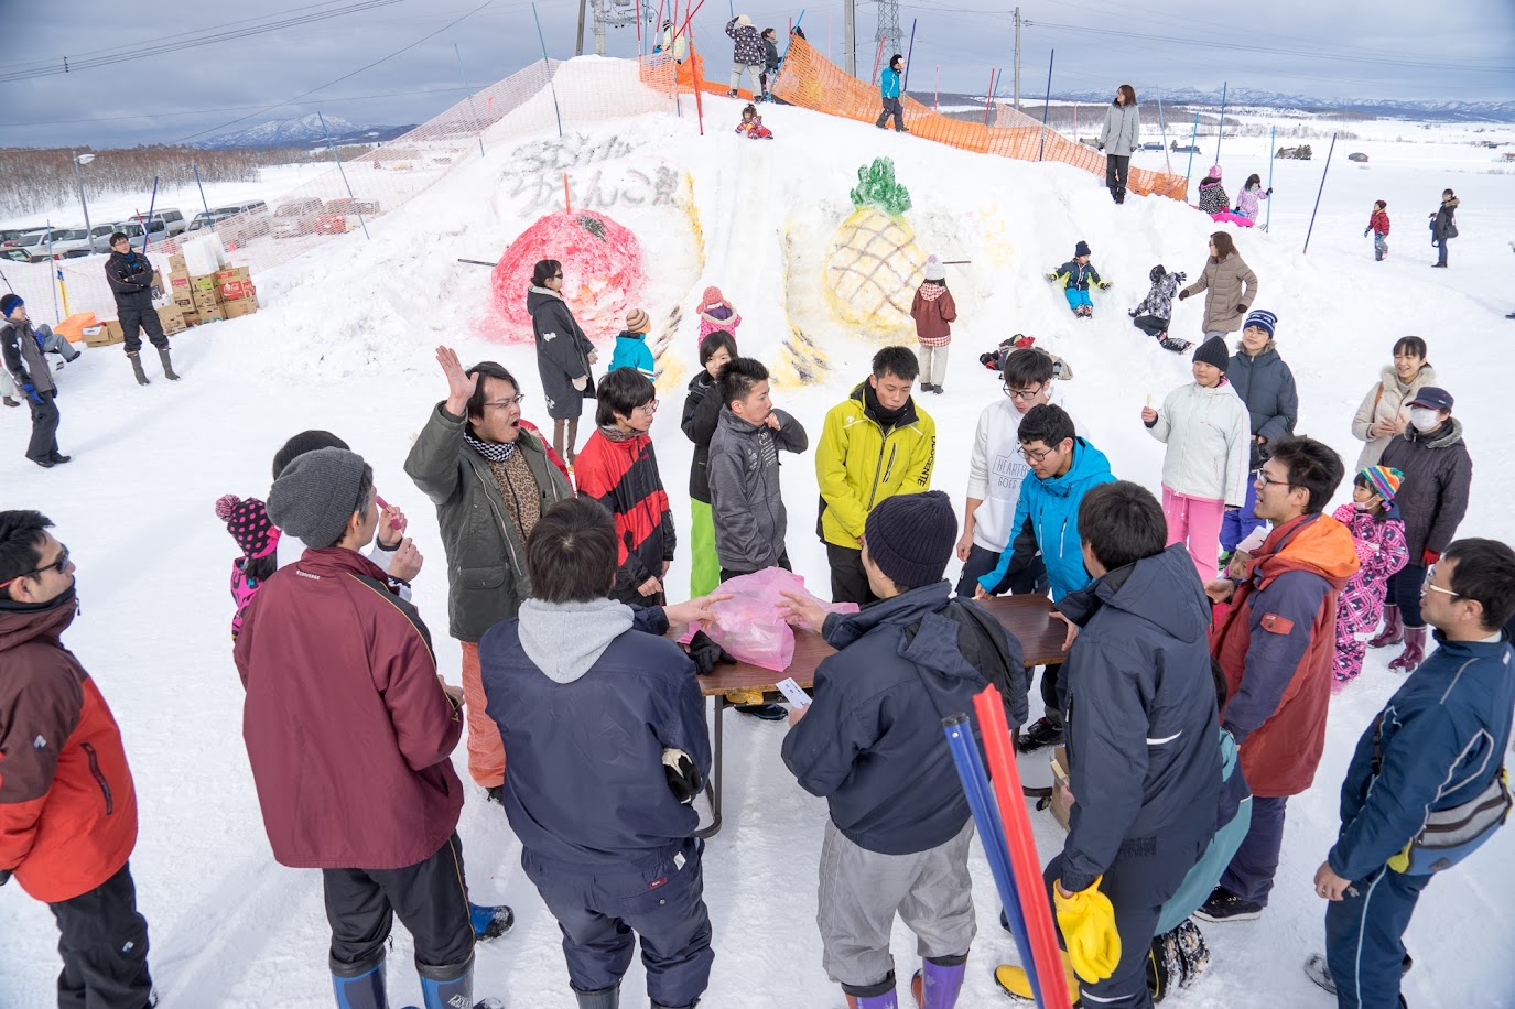
[[[827,617],[826,641],[839,651],[815,670],[815,703],[783,741],[800,786],[824,795],[836,827],[870,851],[926,851],[968,823],[942,718],[971,712],[986,680],[959,651],[959,624],[942,615],[950,594],[951,583],[938,582]],[[1000,645],[1023,670],[1020,642],[1004,632]],[[1011,701],[1024,718],[1018,686]]]

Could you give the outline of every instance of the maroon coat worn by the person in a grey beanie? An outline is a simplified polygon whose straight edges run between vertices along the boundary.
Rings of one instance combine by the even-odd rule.
[[[264,582],[236,638],[242,738],[274,857],[415,865],[458,826],[462,718],[430,633],[368,558],[306,550]]]

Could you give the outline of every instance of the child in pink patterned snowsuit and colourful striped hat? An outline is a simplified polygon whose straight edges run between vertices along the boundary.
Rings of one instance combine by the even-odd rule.
[[[1351,504],[1342,504],[1333,518],[1351,530],[1362,567],[1347,582],[1336,601],[1336,662],[1332,668],[1332,694],[1362,673],[1368,638],[1383,618],[1383,597],[1389,576],[1409,561],[1404,521],[1394,497],[1404,474],[1389,467],[1370,467],[1351,482]]]

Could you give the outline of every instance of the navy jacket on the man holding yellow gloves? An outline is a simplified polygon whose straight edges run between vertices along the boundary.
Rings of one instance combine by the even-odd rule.
[[[1123,850],[1192,864],[1215,833],[1221,758],[1210,606],[1189,551],[1110,571],[1057,611],[1083,629],[1060,683],[1076,797],[1062,885],[1088,888]]]

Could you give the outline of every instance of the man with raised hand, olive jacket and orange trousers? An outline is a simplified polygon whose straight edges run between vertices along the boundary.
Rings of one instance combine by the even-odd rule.
[[[432,408],[405,471],[436,504],[447,550],[448,633],[462,644],[468,774],[500,801],[504,745],[485,712],[479,638],[512,620],[530,591],[526,538],[548,508],[573,497],[547,444],[521,421],[515,377],[492,361],[467,373],[450,347],[436,348],[447,398]]]

